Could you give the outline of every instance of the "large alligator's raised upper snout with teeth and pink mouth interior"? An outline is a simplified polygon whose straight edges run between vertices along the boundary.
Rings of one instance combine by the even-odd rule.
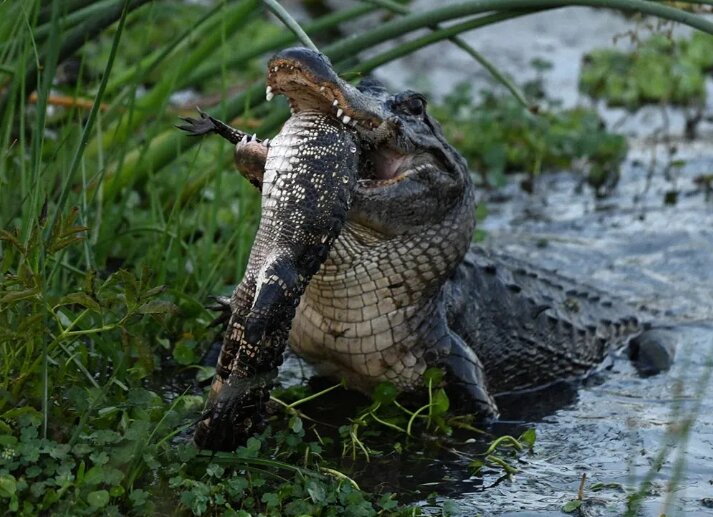
[[[413,157],[394,147],[399,124],[373,98],[342,80],[327,58],[307,49],[288,49],[268,63],[268,101],[287,97],[293,113],[319,111],[353,130],[362,146],[359,188],[395,185],[413,174]]]

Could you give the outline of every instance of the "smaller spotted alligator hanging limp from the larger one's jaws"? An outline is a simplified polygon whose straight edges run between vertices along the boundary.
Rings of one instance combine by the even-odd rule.
[[[280,57],[269,66],[276,75]],[[288,88],[280,91],[289,96]],[[260,166],[260,225],[229,302],[216,375],[194,436],[199,447],[231,450],[259,424],[300,296],[344,224],[359,147],[340,121],[319,111],[294,114],[272,142],[205,113],[200,120],[184,120],[181,129],[195,135],[215,131],[236,144],[236,160],[248,174],[253,164]]]

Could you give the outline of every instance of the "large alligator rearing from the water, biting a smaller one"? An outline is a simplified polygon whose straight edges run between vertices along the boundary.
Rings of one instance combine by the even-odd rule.
[[[353,86],[327,57],[303,48],[268,64],[268,101],[279,93],[293,117],[320,113],[358,147],[346,221],[285,322],[292,350],[321,375],[367,393],[383,381],[413,391],[439,367],[459,408],[494,419],[495,395],[586,376],[645,334],[637,312],[615,297],[471,243],[474,184],[423,95],[390,94],[369,77]],[[237,144],[236,165],[264,190],[271,142],[246,141],[205,114],[186,120],[192,134]],[[224,303],[227,313],[235,314],[235,299]],[[222,423],[213,426],[229,420],[216,415]],[[196,442],[233,448],[231,433],[244,429]]]

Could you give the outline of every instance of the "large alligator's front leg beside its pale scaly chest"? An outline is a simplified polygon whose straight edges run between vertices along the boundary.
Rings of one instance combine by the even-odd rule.
[[[461,410],[489,420],[499,416],[495,400],[488,392],[485,369],[475,351],[454,332],[448,332],[450,351],[440,359],[446,372],[446,391]]]

